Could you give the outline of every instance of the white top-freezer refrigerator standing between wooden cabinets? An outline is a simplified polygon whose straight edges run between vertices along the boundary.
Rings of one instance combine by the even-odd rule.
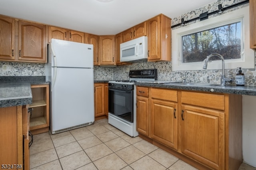
[[[93,124],[93,45],[52,39],[45,70],[52,134]]]

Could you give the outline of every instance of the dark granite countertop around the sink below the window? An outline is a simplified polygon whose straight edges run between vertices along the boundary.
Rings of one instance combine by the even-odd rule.
[[[198,87],[198,86],[184,86],[174,83],[168,84],[153,84],[153,83],[135,83],[135,85],[146,86],[146,87],[160,87],[167,89],[182,89],[182,90],[192,90],[192,91],[207,91],[212,93],[229,93],[229,94],[239,94],[239,95],[252,95],[256,96],[256,86],[236,86],[236,85],[226,85],[218,87]]]

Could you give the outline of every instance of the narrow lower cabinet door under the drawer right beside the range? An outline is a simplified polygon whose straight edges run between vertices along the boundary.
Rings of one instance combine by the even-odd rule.
[[[138,132],[149,135],[149,99],[137,95],[136,101],[136,129]]]

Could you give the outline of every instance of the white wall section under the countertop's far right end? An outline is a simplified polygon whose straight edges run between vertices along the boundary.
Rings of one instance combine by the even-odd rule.
[[[243,95],[242,119],[244,163],[256,167],[256,96]]]

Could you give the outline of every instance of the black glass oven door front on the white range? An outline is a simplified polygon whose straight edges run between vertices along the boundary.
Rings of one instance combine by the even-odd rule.
[[[109,88],[108,111],[126,121],[133,122],[133,91]]]

